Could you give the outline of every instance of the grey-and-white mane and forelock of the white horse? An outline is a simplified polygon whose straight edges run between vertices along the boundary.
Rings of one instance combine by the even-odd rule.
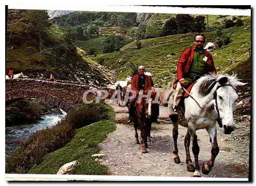
[[[227,84],[231,85],[235,90],[238,86],[241,86],[240,79],[237,78],[237,74],[218,74],[218,75],[205,75],[201,77],[199,81],[199,93],[200,94],[208,94],[212,88],[218,83],[219,79],[222,77],[227,77],[228,81]]]

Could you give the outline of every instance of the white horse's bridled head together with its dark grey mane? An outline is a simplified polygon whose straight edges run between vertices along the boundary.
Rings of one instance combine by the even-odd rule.
[[[208,94],[213,91],[214,109],[218,113],[218,123],[224,128],[224,134],[230,134],[234,130],[233,111],[238,98],[237,89],[247,83],[240,82],[236,74],[220,74],[217,76],[205,76],[202,78],[200,92]],[[211,98],[211,99],[212,99]]]

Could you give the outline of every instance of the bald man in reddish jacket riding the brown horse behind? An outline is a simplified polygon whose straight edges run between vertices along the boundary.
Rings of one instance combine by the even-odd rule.
[[[132,113],[131,111],[135,107],[135,102],[139,96],[140,90],[143,90],[143,94],[147,94],[148,91],[151,90],[151,78],[144,74],[144,66],[139,66],[138,71],[139,74],[134,75],[132,79],[132,90],[136,91],[136,97],[130,100],[129,113]],[[131,119],[129,122],[132,122]]]

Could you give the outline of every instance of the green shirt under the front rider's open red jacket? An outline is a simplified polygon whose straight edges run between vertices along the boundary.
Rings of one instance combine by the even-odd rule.
[[[193,81],[196,75],[202,75],[205,73],[205,68],[204,68],[205,61],[203,59],[204,59],[204,50],[199,51],[195,49],[193,62],[191,63],[185,82],[189,83]]]

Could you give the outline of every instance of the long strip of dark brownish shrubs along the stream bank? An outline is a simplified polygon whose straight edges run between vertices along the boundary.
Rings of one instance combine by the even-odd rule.
[[[75,111],[69,113],[54,127],[35,132],[16,148],[6,160],[6,173],[27,173],[32,166],[39,164],[47,153],[69,143],[75,129],[102,119],[109,119],[108,111],[102,103],[81,103]]]

